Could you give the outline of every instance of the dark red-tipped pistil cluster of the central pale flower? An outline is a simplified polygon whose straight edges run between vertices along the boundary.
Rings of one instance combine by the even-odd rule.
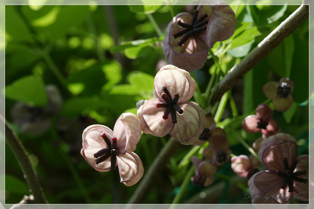
[[[179,100],[179,94],[175,94],[173,99],[171,99],[171,94],[168,91],[167,87],[166,86],[162,87],[162,90],[164,91],[164,93],[161,94],[161,98],[163,98],[166,103],[158,102],[156,104],[156,107],[157,108],[159,108],[159,107],[166,108],[162,118],[164,120],[168,119],[168,115],[171,112],[172,123],[176,123],[177,122],[176,112],[178,112],[179,114],[183,113],[183,110],[179,107],[179,105],[177,105],[177,102]]]

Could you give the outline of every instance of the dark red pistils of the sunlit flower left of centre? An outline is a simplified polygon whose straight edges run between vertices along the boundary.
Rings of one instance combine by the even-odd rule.
[[[111,143],[109,137],[105,133],[102,133],[100,137],[104,139],[108,147],[104,149],[100,149],[98,152],[94,154],[94,157],[96,158],[95,162],[98,165],[99,163],[104,162],[106,159],[108,159],[111,156],[110,170],[115,170],[116,159],[117,159],[116,155],[119,153],[119,150],[117,147],[117,138],[113,137],[112,143]]]

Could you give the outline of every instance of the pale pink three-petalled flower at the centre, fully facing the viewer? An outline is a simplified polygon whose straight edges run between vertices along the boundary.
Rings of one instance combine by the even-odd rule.
[[[142,131],[154,136],[168,133],[181,144],[193,144],[204,130],[205,114],[194,102],[195,81],[173,65],[160,69],[154,79],[157,99],[145,102],[137,111]]]

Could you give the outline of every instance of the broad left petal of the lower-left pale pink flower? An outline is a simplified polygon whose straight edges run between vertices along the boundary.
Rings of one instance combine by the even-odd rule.
[[[108,147],[104,139],[100,137],[102,133],[106,133],[110,140],[113,137],[111,129],[103,125],[91,125],[85,128],[83,131],[83,148],[81,154],[90,166],[100,172],[106,172],[110,170],[111,157],[98,165],[96,164],[96,158],[94,157],[94,154],[100,149]]]

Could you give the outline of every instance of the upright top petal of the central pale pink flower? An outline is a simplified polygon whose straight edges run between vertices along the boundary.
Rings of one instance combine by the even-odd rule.
[[[175,94],[179,94],[177,103],[191,99],[196,89],[196,83],[190,73],[173,65],[162,67],[155,76],[154,93],[158,99],[161,99],[161,94],[164,93],[162,90],[164,86],[167,87],[172,98]]]

